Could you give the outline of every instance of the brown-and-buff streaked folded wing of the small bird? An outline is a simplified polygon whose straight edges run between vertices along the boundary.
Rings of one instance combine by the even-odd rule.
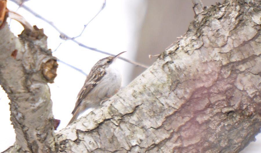
[[[94,75],[93,75],[94,74]],[[99,84],[103,76],[106,74],[105,71],[95,70],[95,72],[90,72],[87,76],[84,86],[81,88],[77,96],[77,101],[75,103],[75,108],[73,109],[72,114],[75,113],[78,106],[81,104],[81,101],[92,91],[92,89]]]

